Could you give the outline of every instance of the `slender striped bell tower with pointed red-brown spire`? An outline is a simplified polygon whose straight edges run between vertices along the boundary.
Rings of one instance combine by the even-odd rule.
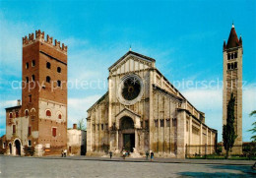
[[[235,97],[234,131],[237,138],[234,146],[242,146],[242,38],[237,37],[234,26],[229,33],[227,43],[224,41],[224,90],[223,90],[223,124],[226,124],[227,104],[231,93]],[[232,153],[241,153],[242,147],[232,148]]]

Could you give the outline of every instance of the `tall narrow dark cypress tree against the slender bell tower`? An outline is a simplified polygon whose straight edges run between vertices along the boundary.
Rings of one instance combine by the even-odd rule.
[[[233,147],[234,141],[236,139],[236,135],[234,132],[234,102],[235,97],[233,96],[233,93],[230,95],[230,100],[227,104],[227,114],[226,114],[226,125],[224,125],[223,130],[223,140],[224,140],[224,149],[225,149],[225,158],[228,157],[228,152]]]

